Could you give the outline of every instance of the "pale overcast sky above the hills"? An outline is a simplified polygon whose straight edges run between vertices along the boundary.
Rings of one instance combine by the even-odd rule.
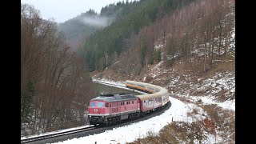
[[[122,1],[126,2],[126,0],[21,0],[22,3],[30,4],[39,10],[42,18],[54,18],[55,22],[65,22],[90,9],[99,14],[103,6]]]

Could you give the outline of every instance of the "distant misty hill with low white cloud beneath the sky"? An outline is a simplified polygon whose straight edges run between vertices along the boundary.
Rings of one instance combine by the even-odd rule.
[[[75,18],[71,18],[66,22],[60,23],[58,30],[62,31],[66,36],[67,42],[71,46],[72,50],[77,50],[84,44],[86,38],[93,34],[97,30],[109,26],[112,22],[122,19],[130,12],[134,10],[134,2],[117,2],[102,7],[100,14],[97,14],[94,10],[88,10],[85,13],[78,15]]]

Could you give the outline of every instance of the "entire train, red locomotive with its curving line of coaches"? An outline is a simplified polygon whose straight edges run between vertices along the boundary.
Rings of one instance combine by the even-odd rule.
[[[168,90],[145,82],[126,80],[126,87],[148,94],[100,94],[90,100],[87,122],[94,126],[111,126],[123,120],[143,117],[161,110],[169,100]]]

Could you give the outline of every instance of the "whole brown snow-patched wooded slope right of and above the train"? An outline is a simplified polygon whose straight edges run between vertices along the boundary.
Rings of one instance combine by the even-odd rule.
[[[154,82],[178,93],[212,94],[220,101],[234,99],[234,87],[225,90],[219,84],[206,84],[218,83],[224,75],[229,75],[226,82],[233,82],[234,20],[234,0],[196,0],[126,38],[126,50],[107,69],[93,75]],[[212,77],[217,79],[201,81]],[[198,88],[192,90],[192,84]]]

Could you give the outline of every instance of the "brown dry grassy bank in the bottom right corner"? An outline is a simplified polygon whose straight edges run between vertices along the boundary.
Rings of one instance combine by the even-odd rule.
[[[204,143],[208,142],[208,136],[216,135],[223,138],[223,143],[235,143],[235,114],[233,110],[223,110],[217,105],[202,106],[208,117],[202,121],[172,122],[162,128],[158,134],[149,131],[146,138],[138,138],[130,144],[137,143]],[[190,113],[198,114],[197,110]],[[188,115],[190,115],[188,114]]]

